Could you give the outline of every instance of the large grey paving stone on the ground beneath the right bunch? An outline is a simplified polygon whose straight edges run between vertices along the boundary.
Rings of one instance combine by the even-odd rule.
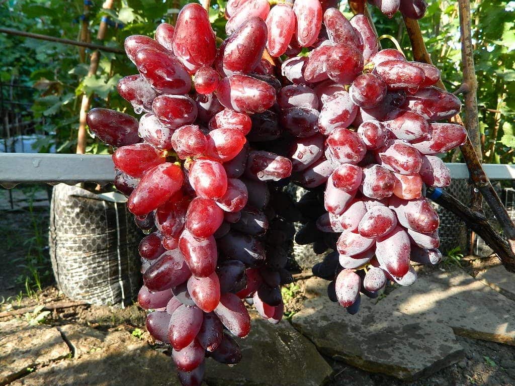
[[[463,358],[453,331],[384,307],[384,300],[362,297],[361,309],[349,315],[327,297],[328,282],[311,278],[306,294],[312,299],[292,322],[318,349],[360,369],[400,379],[415,379]],[[390,294],[391,295],[391,294]]]

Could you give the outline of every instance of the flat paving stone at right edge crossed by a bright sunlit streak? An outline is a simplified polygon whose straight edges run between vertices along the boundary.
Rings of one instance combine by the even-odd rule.
[[[380,304],[460,336],[515,345],[515,302],[460,269],[420,277]]]

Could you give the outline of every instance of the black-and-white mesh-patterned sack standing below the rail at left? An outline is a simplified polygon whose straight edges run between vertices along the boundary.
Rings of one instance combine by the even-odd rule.
[[[50,259],[57,286],[70,299],[123,307],[138,292],[140,231],[125,201],[118,193],[54,187]]]

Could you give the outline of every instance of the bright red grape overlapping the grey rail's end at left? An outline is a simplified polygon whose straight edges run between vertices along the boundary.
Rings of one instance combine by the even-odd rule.
[[[114,166],[131,177],[141,178],[143,173],[165,162],[165,158],[148,144],[134,144],[117,148],[113,153]]]

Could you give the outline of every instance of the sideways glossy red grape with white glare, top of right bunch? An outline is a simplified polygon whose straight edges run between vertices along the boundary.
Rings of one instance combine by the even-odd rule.
[[[422,69],[403,60],[387,60],[377,64],[374,73],[386,83],[391,90],[407,90],[415,94],[425,82]]]

